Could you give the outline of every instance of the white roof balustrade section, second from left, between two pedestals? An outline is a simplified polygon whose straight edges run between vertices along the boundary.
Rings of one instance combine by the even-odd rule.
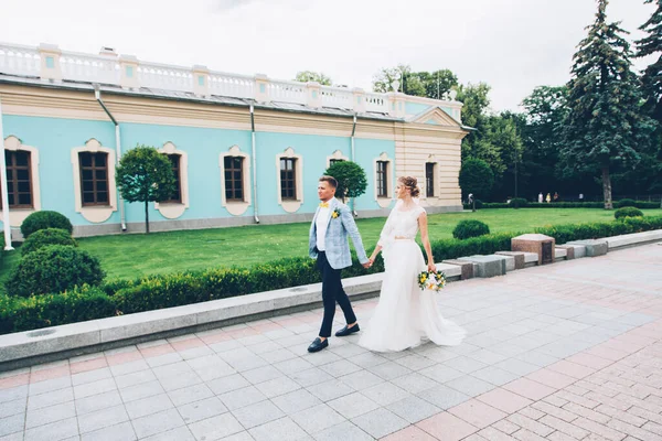
[[[117,60],[99,55],[63,52],[60,56],[62,77],[65,79],[102,84],[119,84]]]

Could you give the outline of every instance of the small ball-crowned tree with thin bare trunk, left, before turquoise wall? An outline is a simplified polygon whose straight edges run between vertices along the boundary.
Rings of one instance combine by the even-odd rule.
[[[145,203],[145,232],[149,233],[149,202],[162,202],[177,190],[172,164],[153,147],[137,146],[117,166],[117,186],[128,202]]]

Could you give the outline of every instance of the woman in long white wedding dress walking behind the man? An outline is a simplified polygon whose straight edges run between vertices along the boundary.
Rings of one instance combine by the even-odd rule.
[[[376,352],[397,352],[431,340],[438,345],[455,346],[466,333],[460,326],[439,313],[435,291],[418,287],[420,271],[435,271],[433,251],[428,239],[427,214],[413,197],[417,197],[416,178],[397,181],[397,203],[382,229],[377,246],[370,257],[371,265],[382,251],[384,280],[380,302],[359,345]],[[423,252],[416,244],[416,233],[427,254],[427,268]]]

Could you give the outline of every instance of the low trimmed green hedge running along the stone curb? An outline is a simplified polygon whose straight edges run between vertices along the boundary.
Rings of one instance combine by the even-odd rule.
[[[627,217],[609,223],[558,225],[536,228],[536,233],[569,240],[617,236],[662,228],[662,216]],[[520,233],[500,233],[465,240],[444,239],[431,244],[435,261],[462,256],[488,255],[511,249],[511,238]],[[364,269],[353,256],[354,266],[343,271],[354,277],[384,270],[377,258]],[[290,288],[320,281],[316,262],[292,258],[252,268],[209,269],[151,276],[136,280],[108,281],[98,288],[84,286],[61,294],[30,298],[0,297],[0,333],[100,319],[182,304],[244,295],[252,292]]]

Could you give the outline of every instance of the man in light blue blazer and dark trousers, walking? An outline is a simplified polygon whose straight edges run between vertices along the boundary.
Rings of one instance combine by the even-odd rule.
[[[318,196],[321,203],[310,225],[308,254],[313,259],[317,258],[318,269],[322,273],[324,319],[322,320],[320,336],[308,346],[308,352],[322,351],[329,346],[331,325],[335,314],[335,302],[340,304],[348,322],[342,330],[335,333],[335,336],[343,337],[360,331],[356,315],[354,315],[350,299],[342,289],[342,282],[340,281],[340,271],[352,265],[348,235],[354,243],[359,261],[363,267],[369,268],[370,261],[365,256],[363,243],[350,208],[334,197],[337,187],[338,181],[335,181],[335,178],[320,178]]]

